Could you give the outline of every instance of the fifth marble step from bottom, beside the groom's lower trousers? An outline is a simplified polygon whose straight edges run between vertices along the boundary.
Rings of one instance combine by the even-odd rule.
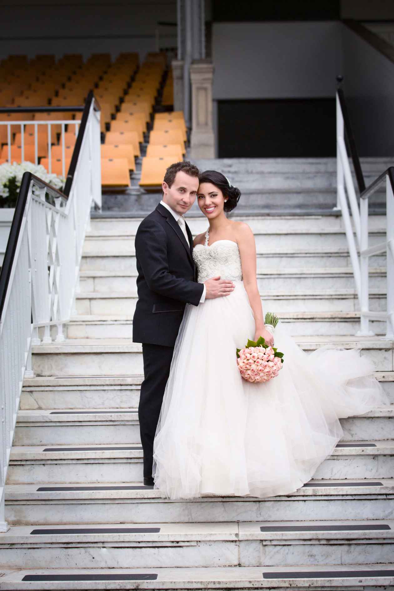
[[[340,420],[341,441],[385,440],[394,434],[394,404]],[[14,446],[141,444],[138,408],[19,410]]]

